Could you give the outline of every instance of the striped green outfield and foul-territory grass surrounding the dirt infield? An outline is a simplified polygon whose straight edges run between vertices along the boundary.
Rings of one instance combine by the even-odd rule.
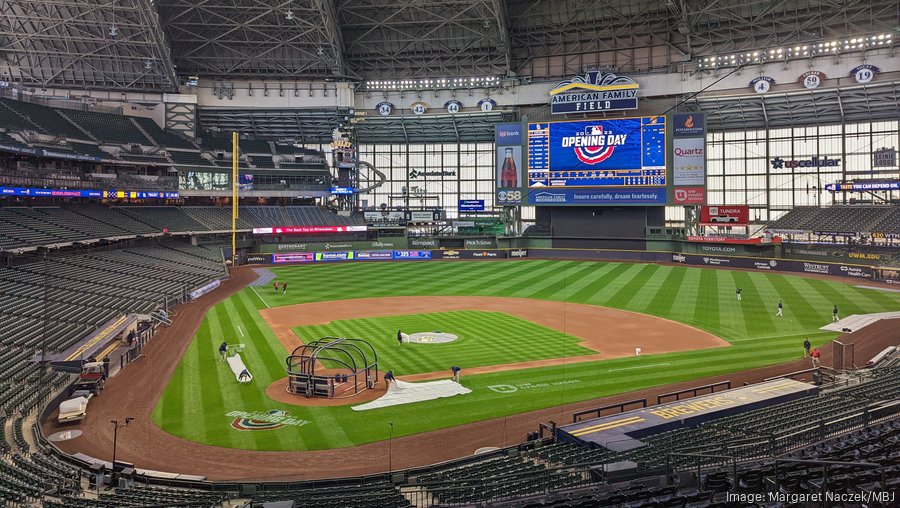
[[[809,337],[815,345],[834,337],[832,333],[818,330],[831,320],[834,304],[842,315],[900,310],[900,294],[854,287],[852,282],[856,281],[845,284],[765,272],[653,264],[539,260],[354,263],[281,267],[275,272],[279,280],[289,282],[289,294],[273,295],[271,287],[247,288],[208,313],[154,410],[153,419],[162,429],[198,442],[247,449],[353,446],[386,439],[387,422],[394,423],[395,436],[415,434],[780,363],[801,356],[804,337]],[[736,287],[744,290],[743,302],[736,301]],[[268,399],[266,387],[285,375],[287,352],[262,320],[259,309],[397,295],[524,297],[616,307],[708,330],[729,341],[732,347],[478,376],[466,376],[463,371],[462,382],[473,390],[471,394],[365,412],[355,412],[349,407],[300,408]],[[784,300],[783,318],[775,317],[779,299]],[[442,314],[452,313],[424,318]],[[521,323],[503,314],[480,314],[485,315],[479,316],[479,321],[486,324],[463,322],[454,330],[449,325],[441,324],[441,327],[481,344],[491,334],[489,329],[481,331],[481,328],[496,327],[496,323],[506,318]],[[401,356],[406,353],[400,348],[388,346],[396,328],[405,327],[397,326],[397,319],[417,318],[358,319],[299,331],[304,337],[307,333],[340,335],[354,331],[352,335],[356,337],[371,338],[380,344],[379,362],[393,366],[398,372],[445,369],[448,363],[444,358],[438,359],[443,354],[440,348],[453,344],[416,345],[423,355],[428,355],[427,361],[416,362]],[[537,327],[528,333],[539,333],[537,329],[547,331]],[[254,375],[249,385],[239,385],[231,371],[217,361],[216,349],[223,338],[247,345],[242,356]],[[565,348],[566,356],[571,356],[583,349],[575,340],[556,333],[545,341],[546,348],[531,351],[514,351],[515,346],[498,343],[496,351],[473,352],[475,356],[471,360],[493,362],[494,358],[526,354],[543,358],[559,356],[555,347]],[[436,349],[428,352],[425,348]],[[432,361],[435,363],[429,363]],[[294,418],[308,423],[275,430],[239,431],[231,426],[235,418],[226,415],[231,411],[268,410],[288,411]],[[560,415],[562,420],[567,417]]]

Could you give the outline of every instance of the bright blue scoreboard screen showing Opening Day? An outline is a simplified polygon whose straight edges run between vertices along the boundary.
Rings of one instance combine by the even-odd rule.
[[[659,196],[666,186],[666,117],[530,123],[528,186],[643,188]]]

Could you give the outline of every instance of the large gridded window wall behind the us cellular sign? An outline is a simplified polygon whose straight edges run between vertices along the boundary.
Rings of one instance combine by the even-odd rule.
[[[825,185],[846,180],[897,179],[897,166],[874,168],[873,152],[900,148],[898,122],[772,128],[707,134],[707,187],[710,204],[747,204],[754,221],[774,220],[797,206],[826,206],[843,199]],[[840,159],[837,166],[775,167],[773,161]],[[877,193],[888,199],[900,193]],[[848,199],[871,200],[866,194]],[[680,209],[667,214],[683,219]]]

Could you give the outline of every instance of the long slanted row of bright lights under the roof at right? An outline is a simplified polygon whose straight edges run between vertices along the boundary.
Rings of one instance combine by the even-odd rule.
[[[795,44],[793,46],[765,48],[727,55],[704,56],[697,59],[700,69],[738,67],[746,64],[773,61],[797,60],[841,52],[865,51],[892,47],[895,37],[891,33],[869,34],[862,37],[848,37],[841,40]]]

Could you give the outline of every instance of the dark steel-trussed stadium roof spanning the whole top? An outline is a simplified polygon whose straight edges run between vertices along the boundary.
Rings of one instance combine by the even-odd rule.
[[[554,78],[896,30],[896,0],[15,0],[0,81],[174,91],[178,77]]]

